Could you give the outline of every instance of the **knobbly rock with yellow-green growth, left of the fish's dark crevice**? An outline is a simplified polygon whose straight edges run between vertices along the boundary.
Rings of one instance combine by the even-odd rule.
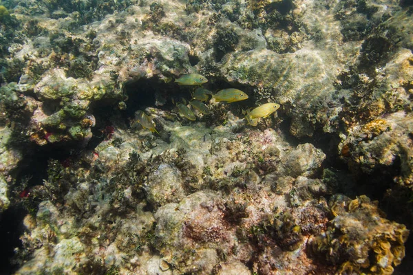
[[[89,83],[81,78],[66,78],[62,69],[51,70],[34,87],[34,93],[43,102],[39,103],[41,109],[36,110],[30,122],[32,140],[45,144],[72,139],[87,144],[92,137],[90,128],[96,124],[94,116],[87,114],[89,105],[108,93],[116,97],[114,89],[111,80],[100,78]],[[44,128],[47,128],[47,133]],[[49,137],[48,133],[57,135],[42,139],[43,136]]]

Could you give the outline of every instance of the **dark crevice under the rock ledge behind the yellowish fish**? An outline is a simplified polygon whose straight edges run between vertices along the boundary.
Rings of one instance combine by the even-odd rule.
[[[235,87],[226,83],[224,80],[210,80],[209,83],[202,87],[211,90],[214,94],[220,89]],[[191,92],[197,87],[195,86],[180,86],[177,83],[162,83],[158,78],[140,79],[131,81],[125,84],[124,94],[127,108],[119,110],[117,104],[113,100],[98,100],[91,105],[91,113],[96,118],[96,126],[92,128],[92,139],[87,144],[86,149],[94,150],[100,142],[110,138],[110,131],[114,131],[114,122],[112,118],[117,112],[123,118],[123,125],[116,127],[129,127],[131,120],[134,120],[135,112],[145,110],[147,107],[156,107],[163,111],[176,111],[176,103],[191,100]],[[255,96],[253,87],[236,86],[248,94],[248,100],[226,104],[226,109],[232,111],[235,115],[242,118],[243,110],[253,106]],[[225,103],[222,103],[225,104]],[[208,126],[208,120],[204,120]],[[215,122],[215,121],[213,121]],[[166,138],[166,137],[165,137]],[[166,138],[167,140],[167,138]]]

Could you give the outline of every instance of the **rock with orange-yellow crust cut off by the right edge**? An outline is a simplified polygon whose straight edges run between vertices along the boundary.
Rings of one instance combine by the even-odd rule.
[[[397,184],[411,187],[413,164],[411,113],[399,111],[354,126],[339,148],[354,173],[388,173]]]

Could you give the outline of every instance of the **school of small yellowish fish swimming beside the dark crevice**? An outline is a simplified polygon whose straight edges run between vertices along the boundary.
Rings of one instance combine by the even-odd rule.
[[[175,83],[178,83],[178,85],[187,85],[187,86],[200,86],[204,83],[207,83],[208,79],[205,76],[202,76],[200,74],[184,74],[180,78],[175,80]],[[222,89],[218,91],[218,93],[213,94],[211,91],[208,89],[204,89],[202,87],[198,87],[193,91],[192,94],[192,100],[189,101],[189,104],[193,109],[197,109],[200,113],[204,115],[208,115],[211,113],[209,111],[209,108],[204,102],[207,102],[209,98],[213,98],[215,102],[226,102],[226,103],[231,103],[231,102],[237,102],[241,100],[246,100],[248,99],[248,95],[244,93],[244,91],[241,91],[239,89],[235,88],[229,88],[229,89]],[[184,100],[183,100],[184,101]],[[178,113],[183,117],[186,118],[187,120],[194,121],[196,120],[195,113],[187,106],[187,102],[184,101],[176,103],[176,107],[178,109]],[[268,102],[265,104],[262,104],[255,109],[249,109],[248,111],[244,111],[244,119],[246,120],[246,123],[251,125],[251,126],[257,126],[258,121],[261,118],[266,118],[268,115],[271,115],[277,109],[279,109],[280,105],[277,103],[272,103]],[[150,118],[144,111],[136,111],[135,113],[135,118],[136,122],[138,122],[143,129],[149,129],[152,133],[156,131],[155,129],[155,123],[152,121],[152,118]],[[159,134],[159,133],[158,133]]]

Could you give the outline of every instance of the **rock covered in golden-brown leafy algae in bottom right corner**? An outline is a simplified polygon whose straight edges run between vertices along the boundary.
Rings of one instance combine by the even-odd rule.
[[[335,218],[311,242],[315,255],[339,265],[340,273],[392,274],[405,256],[405,225],[383,218],[377,201],[364,195],[353,200],[335,195],[329,205]]]

